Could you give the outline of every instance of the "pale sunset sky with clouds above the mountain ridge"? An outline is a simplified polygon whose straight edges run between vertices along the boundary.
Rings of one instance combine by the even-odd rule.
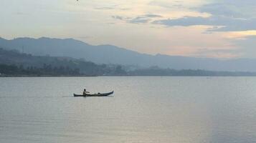
[[[256,58],[255,0],[1,0],[0,36],[147,54]]]

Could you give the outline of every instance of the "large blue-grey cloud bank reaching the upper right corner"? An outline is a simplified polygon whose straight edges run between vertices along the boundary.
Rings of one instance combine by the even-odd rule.
[[[255,0],[222,0],[212,4],[204,4],[191,8],[203,13],[211,14],[203,16],[184,16],[178,19],[160,19],[153,24],[166,26],[213,26],[207,31],[245,31],[256,29],[256,1]]]

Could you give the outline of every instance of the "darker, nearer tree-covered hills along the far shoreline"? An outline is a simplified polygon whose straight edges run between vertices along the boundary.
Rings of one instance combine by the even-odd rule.
[[[33,56],[0,48],[0,77],[20,76],[256,76],[256,72],[162,69],[151,66],[133,69],[115,64],[63,56]]]

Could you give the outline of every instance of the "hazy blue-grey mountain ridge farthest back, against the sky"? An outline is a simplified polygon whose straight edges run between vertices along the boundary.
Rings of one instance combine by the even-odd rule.
[[[75,39],[0,38],[0,47],[16,49],[37,56],[69,56],[96,64],[123,64],[171,69],[204,69],[212,71],[256,71],[256,59],[211,59],[162,54],[141,54],[112,45],[93,46]]]

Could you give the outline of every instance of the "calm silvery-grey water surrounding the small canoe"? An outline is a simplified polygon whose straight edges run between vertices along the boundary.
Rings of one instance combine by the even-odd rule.
[[[256,77],[0,78],[0,142],[256,142]]]

